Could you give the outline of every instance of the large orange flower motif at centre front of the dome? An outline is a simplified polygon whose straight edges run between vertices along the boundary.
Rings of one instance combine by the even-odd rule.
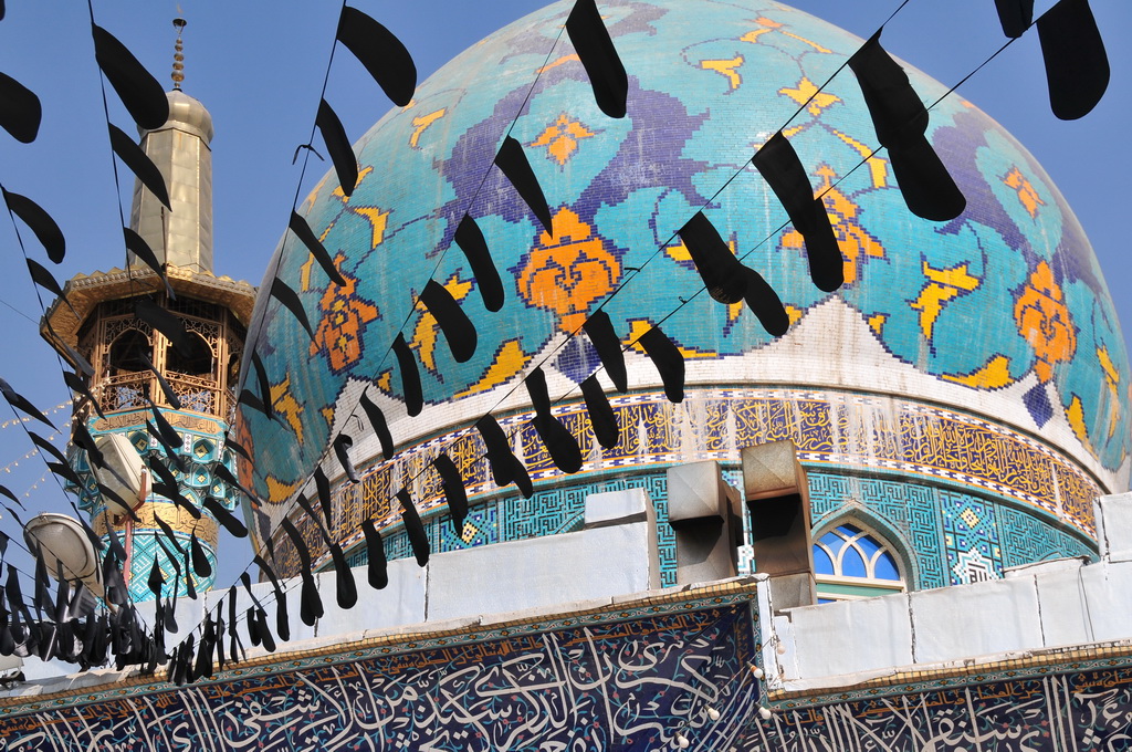
[[[595,301],[614,290],[621,264],[608,242],[571,210],[563,207],[542,232],[516,280],[518,293],[537,307],[558,314],[564,332],[575,332]]]

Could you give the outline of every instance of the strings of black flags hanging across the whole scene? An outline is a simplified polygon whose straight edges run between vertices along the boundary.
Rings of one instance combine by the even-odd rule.
[[[1007,36],[1017,37],[1031,25],[1031,1],[996,0],[996,2],[1003,31]],[[0,18],[2,16],[3,6],[0,1]],[[1053,111],[1063,119],[1082,117],[1099,101],[1108,79],[1107,60],[1088,0],[1060,0],[1053,9],[1038,19],[1037,26],[1046,61]],[[146,129],[163,125],[169,117],[169,110],[168,100],[161,85],[109,32],[93,24],[92,31],[98,66],[137,125]],[[575,3],[567,19],[566,31],[590,77],[599,108],[609,117],[624,117],[627,106],[627,76],[601,22],[594,0],[578,0]],[[954,219],[963,211],[966,200],[925,136],[928,125],[927,109],[911,88],[907,75],[881,46],[880,35],[878,31],[848,61],[860,83],[877,139],[890,153],[897,182],[909,210],[917,216],[927,220]],[[344,6],[336,40],[362,62],[394,103],[402,106],[409,103],[415,88],[415,67],[405,48],[385,27],[366,14]],[[18,140],[28,143],[35,138],[38,130],[40,116],[38,99],[15,79],[0,74],[0,127],[3,127]],[[319,103],[316,127],[326,144],[326,151],[334,164],[342,189],[349,196],[358,181],[357,160],[341,121],[325,99]],[[169,207],[164,180],[153,162],[121,129],[110,123],[109,118],[108,128],[114,154],[158,200]],[[310,145],[307,146],[312,148]],[[790,222],[803,234],[807,248],[811,279],[814,284],[826,292],[840,288],[843,282],[843,263],[829,216],[824,211],[824,204],[821,197],[814,197],[805,166],[781,130],[758,149],[752,162],[782,203]],[[506,136],[494,164],[504,173],[526,203],[531,213],[549,232],[550,211],[522,145],[509,135]],[[32,229],[36,239],[44,247],[49,259],[55,264],[60,263],[65,257],[66,246],[62,232],[50,215],[32,199],[7,189],[3,189],[3,198],[9,212]],[[329,254],[318,241],[306,220],[293,208],[289,227],[303,246],[309,249],[331,281],[335,284],[344,283]],[[123,234],[127,249],[146,263],[164,281],[168,294],[173,297],[172,288],[165,279],[164,268],[153,250],[129,228],[123,228]],[[697,212],[676,234],[688,249],[706,291],[714,300],[728,305],[746,301],[761,325],[770,334],[779,336],[787,331],[789,319],[773,289],[757,272],[744,265],[741,259],[730,251],[718,230],[702,212]],[[464,253],[475,274],[484,307],[490,311],[498,311],[504,302],[504,288],[491,259],[487,241],[470,215],[465,215],[461,221],[454,240]],[[33,281],[38,287],[54,293],[66,302],[61,287],[46,267],[31,258],[27,258],[27,265]],[[271,283],[271,296],[288,308],[312,336],[310,322],[293,289],[276,277]],[[457,362],[469,360],[475,351],[475,327],[451,293],[435,280],[430,280],[420,293],[420,302],[436,317],[446,341],[449,343],[454,359]],[[138,299],[135,313],[139,319],[165,334],[174,349],[185,351],[187,335],[183,322],[175,315],[148,298]],[[602,367],[615,387],[619,392],[625,392],[628,385],[624,350],[609,316],[599,308],[589,317],[582,328],[594,345]],[[91,393],[87,381],[93,375],[93,368],[79,353],[62,343],[61,337],[55,337],[55,340],[65,348],[68,359],[77,371],[65,373],[68,386],[87,398],[94,409],[98,410],[98,402]],[[659,325],[645,332],[637,343],[655,365],[668,399],[672,402],[681,401],[684,360],[676,345],[663,334]],[[245,388],[240,400],[272,418],[274,416],[267,388],[266,369],[255,353],[255,344],[251,343],[249,348],[250,360],[252,368],[257,371],[256,379],[263,396],[257,396],[251,390]],[[417,416],[423,409],[423,395],[415,359],[403,335],[398,334],[391,350],[397,360],[397,367],[402,375],[408,413]],[[165,400],[174,409],[179,407],[179,400],[169,384],[153,368],[152,364],[148,366],[156,375]],[[524,383],[534,407],[533,427],[544,443],[554,463],[563,472],[576,472],[582,467],[581,448],[575,437],[551,412],[551,401],[541,367],[537,367],[528,374]],[[599,444],[606,448],[616,445],[619,435],[616,416],[609,405],[604,391],[597,381],[597,375],[591,375],[583,381],[581,387]],[[14,408],[51,425],[42,412],[6,383],[2,384],[0,391]],[[359,404],[372,425],[381,446],[383,456],[391,459],[396,448],[380,409],[365,392]],[[149,400],[149,408],[153,420],[146,421],[147,431],[165,450],[174,467],[182,470],[179,467],[181,460],[177,446],[180,439],[175,429],[169,425],[152,400]],[[98,411],[101,415],[101,410]],[[475,422],[475,428],[487,448],[487,459],[496,485],[506,486],[514,482],[524,496],[531,496],[533,486],[530,476],[523,463],[512,452],[507,434],[498,421],[488,413]],[[66,458],[58,450],[54,450],[34,433],[29,431],[29,435],[37,446],[52,454],[57,460],[48,462],[52,471],[76,486],[82,485]],[[93,465],[105,467],[93,438],[86,431],[85,426],[80,426],[79,422],[75,424],[74,442],[87,452]],[[333,442],[333,451],[346,477],[351,481],[357,481],[357,471],[349,459],[351,444],[350,436],[340,434]],[[247,461],[251,461],[251,458],[238,443],[228,439],[228,445],[243,455]],[[157,478],[154,492],[170,498],[178,506],[186,509],[194,518],[199,519],[200,511],[179,493],[173,469],[165,465],[156,456],[151,456],[151,469]],[[445,453],[441,453],[432,462],[432,467],[441,478],[453,524],[458,532],[463,527],[463,519],[468,510],[463,479],[455,463]],[[255,496],[222,463],[216,463],[214,472],[217,478],[232,488],[239,489],[250,497]],[[329,481],[320,467],[316,469],[314,479],[325,524],[303,494],[300,493],[295,501],[315,525],[331,554],[337,573],[336,601],[338,606],[350,608],[357,603],[358,592],[341,545],[331,535]],[[100,490],[104,494],[112,494],[105,486],[101,486]],[[7,488],[0,486],[0,494],[18,504],[18,499]],[[402,510],[402,519],[413,554],[418,563],[423,565],[429,557],[429,542],[423,524],[406,488],[397,492],[396,498]],[[123,506],[128,507],[129,505],[123,504]],[[204,506],[233,535],[247,535],[247,529],[216,499],[206,498]],[[15,516],[14,510],[8,509],[8,511]],[[96,550],[101,550],[104,547],[102,540],[82,519],[82,515],[79,518],[92,544],[95,545]],[[16,519],[18,521],[18,516]],[[165,541],[157,538],[158,546],[168,559],[172,562],[177,579],[180,580],[183,576],[188,583],[189,597],[196,597],[192,591],[192,574],[208,576],[212,573],[211,565],[196,535],[190,537],[188,548],[186,548],[166,523],[157,519],[157,524],[169,541],[166,545]],[[324,608],[311,575],[310,549],[288,516],[284,516],[281,527],[294,546],[301,562],[300,617],[303,623],[312,625],[323,615]],[[369,584],[374,588],[384,588],[388,582],[388,576],[381,536],[371,519],[362,523],[362,531],[369,557]],[[6,547],[7,540],[7,537],[0,538],[0,546]],[[38,557],[35,575],[36,593],[33,599],[38,618],[32,618],[31,609],[20,592],[16,570],[11,565],[8,566],[8,581],[3,587],[3,595],[0,596],[0,652],[20,651],[24,655],[36,653],[41,657],[54,656],[74,660],[86,667],[105,663],[105,656],[109,651],[115,657],[119,667],[137,664],[151,670],[171,657],[170,676],[174,682],[183,683],[196,677],[211,676],[214,657],[215,665],[223,669],[226,663],[237,660],[238,656],[245,652],[237,631],[237,624],[241,619],[247,623],[248,638],[252,646],[263,646],[269,651],[275,649],[276,644],[267,622],[266,609],[255,597],[250,588],[250,578],[245,572],[241,582],[251,603],[246,613],[242,615],[237,613],[238,589],[231,588],[226,604],[222,601],[214,613],[206,614],[204,623],[199,627],[199,641],[190,635],[171,653],[168,653],[164,646],[164,633],[177,629],[173,613],[178,588],[173,588],[174,595],[170,596],[166,601],[162,601],[164,576],[160,565],[155,562],[148,584],[157,599],[157,612],[153,634],[149,635],[139,626],[135,608],[129,603],[128,590],[122,580],[119,565],[126,559],[125,550],[112,531],[109,532],[108,540],[110,553],[103,556],[102,566],[106,583],[105,600],[111,605],[111,608],[101,613],[94,609],[93,599],[88,595],[84,595],[82,586],[71,592],[61,563],[57,563],[59,586],[55,598],[52,600],[46,595],[46,563],[43,562],[42,557]],[[274,541],[271,536],[266,538],[265,544],[274,561]],[[3,549],[0,548],[0,557],[2,554]],[[181,562],[185,565],[183,570]],[[272,583],[276,600],[275,632],[280,639],[288,640],[290,639],[290,625],[286,589],[266,561],[257,555],[254,563]],[[5,608],[5,603],[7,608]],[[224,618],[225,610],[226,619]],[[226,652],[225,639],[228,640]]]

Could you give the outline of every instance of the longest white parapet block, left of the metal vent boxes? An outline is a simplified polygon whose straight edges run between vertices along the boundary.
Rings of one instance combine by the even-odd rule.
[[[651,590],[660,583],[645,522],[436,554],[429,622],[542,608]]]

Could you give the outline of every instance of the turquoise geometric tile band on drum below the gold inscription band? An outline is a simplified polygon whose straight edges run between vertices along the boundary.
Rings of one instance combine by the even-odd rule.
[[[856,519],[914,557],[908,567],[909,589],[924,590],[1001,578],[1004,566],[1044,558],[1088,556],[1095,552],[1070,532],[1032,513],[928,484],[909,482],[907,476],[887,478],[807,469],[812,523],[815,531],[835,521]],[[723,470],[723,479],[743,488],[739,469]],[[457,537],[446,511],[422,515],[435,552],[456,550],[500,540],[522,540],[578,530],[585,497],[608,490],[643,487],[657,509],[661,583],[676,582],[676,544],[668,524],[668,488],[663,472],[614,477],[586,486],[537,490],[530,499],[518,494],[489,499],[468,512],[464,536]],[[751,540],[751,519],[743,515],[744,540]],[[386,557],[412,556],[403,529],[384,533]],[[366,549],[350,556],[352,566],[366,563]],[[326,562],[325,566],[331,566]],[[739,573],[755,571],[749,545],[739,547]]]

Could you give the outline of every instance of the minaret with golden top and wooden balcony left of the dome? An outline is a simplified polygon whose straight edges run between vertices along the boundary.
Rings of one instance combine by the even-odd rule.
[[[185,593],[187,575],[192,576],[196,591],[213,586],[218,531],[204,502],[212,497],[231,511],[239,505],[238,492],[216,477],[216,465],[223,463],[233,475],[237,470],[225,435],[235,408],[237,370],[255,299],[255,288],[247,282],[217,277],[212,272],[212,116],[200,102],[180,91],[185,20],[179,18],[173,24],[178,37],[174,88],[166,94],[170,117],[161,128],[142,134],[143,149],[165,179],[172,212],[138,181],[130,225],[164,264],[175,297],[168,294],[161,277],[131,255],[127,270],[79,274],[68,281],[63,289],[67,302],[57,300],[41,325],[43,336],[65,358],[74,360],[67,352],[72,348],[94,368],[88,387],[98,409],[89,400],[80,401],[76,424],[86,426],[104,454],[117,452],[120,462],[144,465],[140,497],[136,489],[131,496],[119,482],[129,473],[115,477],[97,471],[77,446],[71,446],[69,453],[84,482],[72,490],[91,515],[95,531],[105,538],[114,530],[126,548],[128,562],[122,571],[135,601],[154,597],[149,582],[155,562],[164,579],[163,597],[174,591]],[[165,334],[139,318],[135,310],[142,300],[177,316],[185,325],[189,345],[177,349]],[[179,405],[166,395],[162,379]],[[160,441],[147,427],[158,422],[151,401],[177,431],[180,441],[175,445]],[[175,456],[170,458],[170,451]],[[153,493],[155,482],[158,490],[168,492],[161,472],[165,467],[172,472],[177,493],[200,512],[199,518],[185,504]],[[136,519],[100,489],[100,481],[136,505]],[[175,541],[169,539],[158,520],[173,531]],[[194,573],[194,536],[209,562],[211,575]],[[178,559],[177,566],[170,555]]]

